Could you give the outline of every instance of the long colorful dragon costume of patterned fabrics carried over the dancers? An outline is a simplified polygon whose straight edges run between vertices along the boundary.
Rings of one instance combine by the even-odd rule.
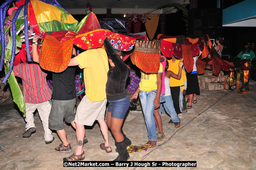
[[[198,54],[200,50],[203,53],[197,62],[198,74],[203,74],[204,68],[212,69],[214,74],[219,73],[220,69],[225,71],[247,69],[246,66],[235,67],[232,62],[222,60],[214,50],[208,35],[172,37],[160,34],[156,40],[148,41],[146,36],[132,37],[101,29],[93,12],[89,12],[81,22],[78,22],[56,0],[16,1],[16,6],[12,8],[13,11],[9,9],[10,17],[6,17],[11,2],[12,0],[6,0],[0,6],[0,71],[5,63],[6,75],[3,82],[8,79],[13,101],[24,113],[24,116],[25,102],[12,73],[12,68],[20,63],[20,60],[25,62],[27,58],[28,61],[31,61],[29,39],[32,37],[43,39],[39,64],[43,69],[53,72],[62,72],[68,67],[73,44],[84,50],[96,47],[104,48],[103,41],[106,37],[110,39],[112,46],[117,50],[130,51],[135,46],[131,55],[132,62],[145,72],[152,73],[159,69],[159,64],[152,64],[159,63],[160,51],[166,57],[172,57],[174,54],[177,58],[183,58],[188,72],[193,69],[193,55]],[[241,61],[241,64],[244,65],[244,62]],[[231,77],[232,75],[231,73]],[[246,74],[244,75],[246,79]]]

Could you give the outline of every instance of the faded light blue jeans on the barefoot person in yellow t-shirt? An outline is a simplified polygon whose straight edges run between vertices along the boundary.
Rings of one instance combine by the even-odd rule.
[[[153,102],[156,98],[157,90],[139,91],[140,103],[142,106],[145,123],[147,127],[147,136],[149,140],[157,140],[156,123],[154,119],[154,106]]]

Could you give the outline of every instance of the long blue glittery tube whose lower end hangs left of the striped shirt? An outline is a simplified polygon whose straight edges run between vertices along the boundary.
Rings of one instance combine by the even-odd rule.
[[[21,9],[24,7],[24,5],[21,5],[18,10],[15,12],[15,15],[12,19],[12,50],[11,50],[11,62],[10,62],[10,67],[9,67],[9,71],[7,72],[7,74],[4,76],[4,80],[3,83],[5,83],[8,79],[8,77],[11,75],[11,71],[12,71],[12,67],[13,67],[13,63],[14,63],[14,58],[15,58],[15,50],[16,50],[16,24],[15,22],[18,19],[18,15],[21,11]]]

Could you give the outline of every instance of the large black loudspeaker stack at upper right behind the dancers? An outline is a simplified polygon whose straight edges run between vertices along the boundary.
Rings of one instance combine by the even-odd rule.
[[[193,8],[188,11],[188,34],[208,34],[210,39],[222,37],[222,9]]]

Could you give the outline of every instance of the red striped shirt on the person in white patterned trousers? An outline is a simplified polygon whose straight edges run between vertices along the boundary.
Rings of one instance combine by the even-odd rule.
[[[51,99],[46,76],[38,64],[21,63],[12,70],[15,76],[22,79],[25,103],[43,103]]]

